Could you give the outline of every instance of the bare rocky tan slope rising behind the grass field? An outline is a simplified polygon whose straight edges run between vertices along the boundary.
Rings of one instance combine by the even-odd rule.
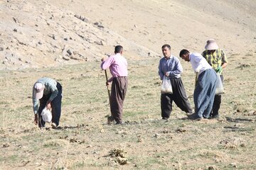
[[[0,69],[99,61],[121,44],[126,57],[201,52],[215,38],[228,55],[256,49],[255,1],[0,1]]]

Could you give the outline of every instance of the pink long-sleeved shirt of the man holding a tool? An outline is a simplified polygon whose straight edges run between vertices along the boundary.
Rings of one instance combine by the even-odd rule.
[[[127,60],[122,57],[120,53],[111,55],[100,65],[102,69],[107,69],[108,67],[110,67],[112,77],[108,80],[109,82],[112,81],[114,77],[127,77],[127,66]]]

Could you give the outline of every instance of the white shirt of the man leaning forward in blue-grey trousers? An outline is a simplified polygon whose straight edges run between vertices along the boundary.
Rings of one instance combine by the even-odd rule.
[[[198,72],[198,75],[206,69],[212,69],[210,64],[206,61],[206,59],[199,54],[198,52],[192,52],[189,54],[189,60],[195,72]]]

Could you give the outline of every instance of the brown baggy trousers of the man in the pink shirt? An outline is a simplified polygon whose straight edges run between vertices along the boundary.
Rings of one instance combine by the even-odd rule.
[[[122,123],[124,98],[127,93],[127,77],[114,77],[111,86],[110,111],[117,123]]]

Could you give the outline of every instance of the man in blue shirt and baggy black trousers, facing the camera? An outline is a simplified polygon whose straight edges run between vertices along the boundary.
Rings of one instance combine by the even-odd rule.
[[[161,117],[167,120],[171,115],[173,101],[178,108],[181,108],[181,111],[186,113],[193,111],[181,81],[181,73],[183,72],[181,62],[177,57],[171,55],[170,45],[163,45],[161,50],[164,57],[159,61],[159,77],[161,80],[164,79],[164,76],[168,77],[173,89],[173,94],[161,94]]]

